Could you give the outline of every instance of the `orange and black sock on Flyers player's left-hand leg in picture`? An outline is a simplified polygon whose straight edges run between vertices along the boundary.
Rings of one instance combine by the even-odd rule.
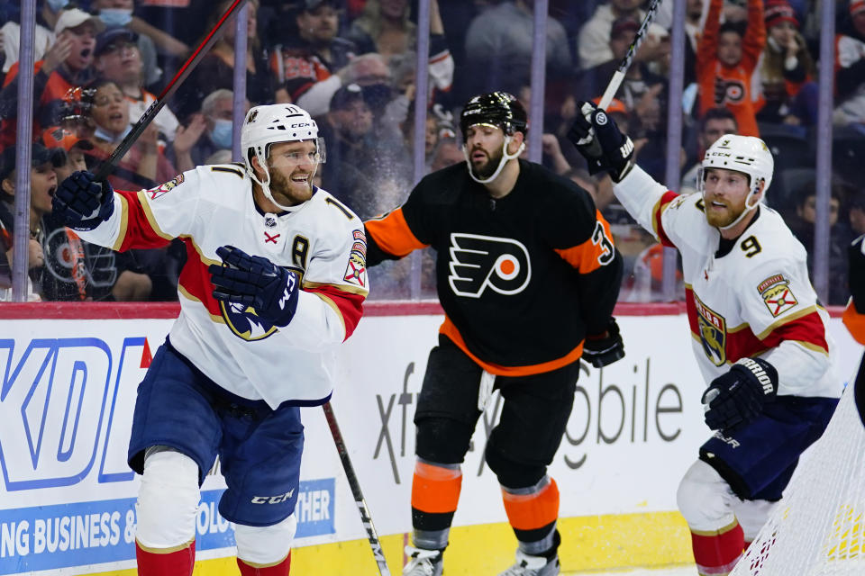
[[[415,546],[443,550],[448,545],[461,487],[460,464],[435,464],[421,459],[414,464],[412,526]]]

